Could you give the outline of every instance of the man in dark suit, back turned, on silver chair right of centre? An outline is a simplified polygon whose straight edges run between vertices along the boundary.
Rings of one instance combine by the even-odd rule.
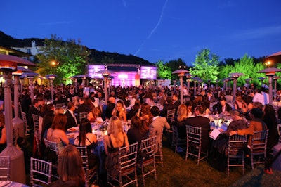
[[[195,117],[188,117],[185,120],[185,124],[193,127],[201,127],[202,136],[201,136],[201,148],[202,151],[207,153],[209,149],[209,131],[210,131],[210,120],[207,117],[202,116],[204,110],[202,106],[197,106],[194,111]]]

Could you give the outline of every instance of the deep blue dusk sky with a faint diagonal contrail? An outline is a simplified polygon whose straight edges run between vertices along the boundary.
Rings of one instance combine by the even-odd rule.
[[[205,48],[219,60],[281,51],[280,7],[280,0],[12,0],[1,3],[0,30],[192,65]]]

